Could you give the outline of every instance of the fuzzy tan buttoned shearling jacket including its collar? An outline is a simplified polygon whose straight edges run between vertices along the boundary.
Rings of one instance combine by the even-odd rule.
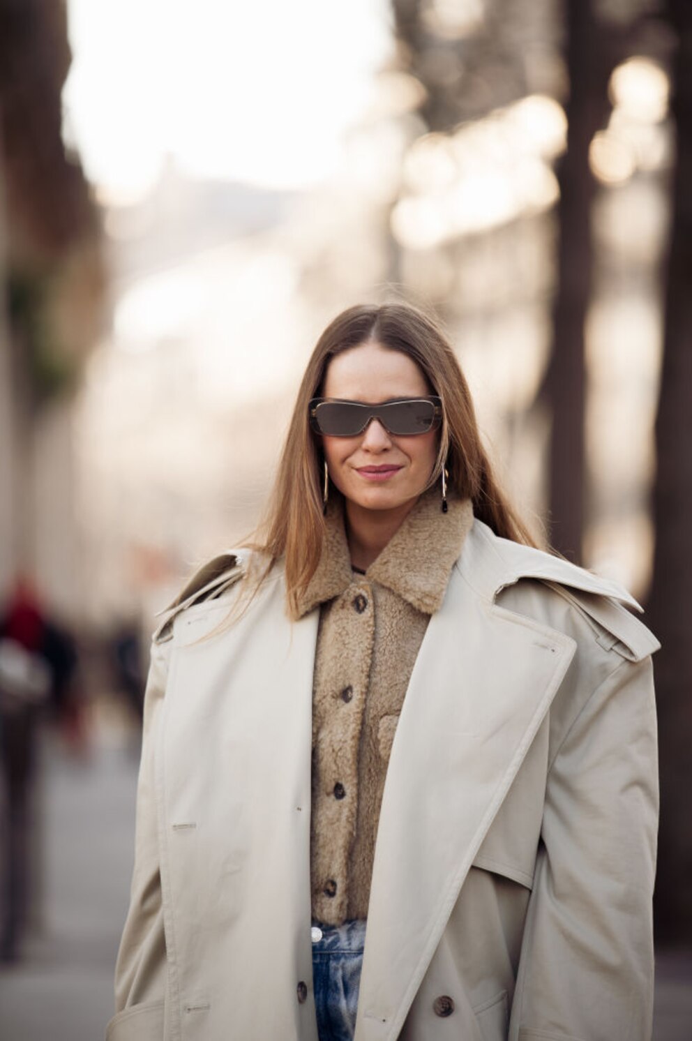
[[[473,520],[470,502],[416,503],[365,575],[351,567],[342,505],[330,503],[319,565],[301,599],[322,605],[312,709],[312,915],[366,918],[396,722],[431,614]]]

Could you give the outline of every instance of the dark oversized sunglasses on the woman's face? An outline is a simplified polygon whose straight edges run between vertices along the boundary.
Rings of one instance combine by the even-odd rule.
[[[361,401],[313,398],[309,406],[310,426],[330,437],[355,437],[371,420],[379,420],[390,434],[427,434],[442,421],[442,402],[428,398],[398,398],[379,405]]]

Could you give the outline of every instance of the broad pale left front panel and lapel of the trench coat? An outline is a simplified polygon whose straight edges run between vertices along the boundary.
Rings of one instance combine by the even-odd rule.
[[[214,1022],[232,1021],[234,1037],[316,1041],[314,1016],[296,1000],[296,988],[310,979],[312,966],[310,740],[318,612],[291,625],[277,580],[213,638],[227,613],[227,605],[212,603],[177,620],[156,756],[172,1000],[176,1008],[211,1005]],[[205,767],[190,769],[201,756]],[[184,942],[176,945],[179,936]],[[208,957],[200,958],[202,949]],[[224,985],[214,990],[209,980],[220,966]],[[273,983],[262,990],[267,972]],[[205,1037],[221,1036],[208,1029]],[[175,1020],[171,1037],[179,1031]]]

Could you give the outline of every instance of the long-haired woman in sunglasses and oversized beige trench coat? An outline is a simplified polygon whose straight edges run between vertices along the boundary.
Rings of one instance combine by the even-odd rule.
[[[648,1038],[658,643],[428,318],[328,327],[265,531],[154,636],[110,1041]]]

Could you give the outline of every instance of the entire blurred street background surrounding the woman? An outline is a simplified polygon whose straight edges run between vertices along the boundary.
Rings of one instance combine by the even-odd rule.
[[[112,1008],[154,612],[316,336],[444,321],[504,480],[656,656],[657,1041],[692,1041],[692,4],[0,0],[0,1038]]]

